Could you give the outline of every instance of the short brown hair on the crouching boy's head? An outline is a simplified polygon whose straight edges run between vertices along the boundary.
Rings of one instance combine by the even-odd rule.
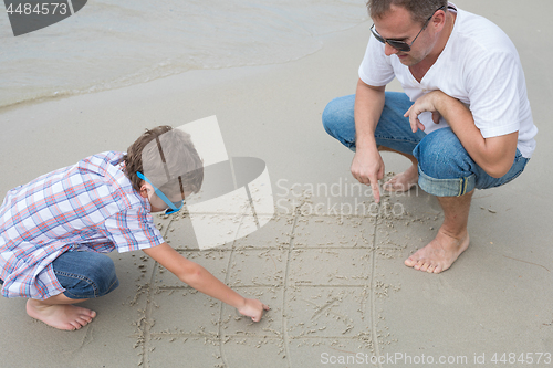
[[[140,191],[140,171],[166,196],[197,193],[204,181],[204,166],[190,135],[168,125],[146,129],[123,157],[125,175],[136,191]],[[179,178],[180,177],[180,181]]]

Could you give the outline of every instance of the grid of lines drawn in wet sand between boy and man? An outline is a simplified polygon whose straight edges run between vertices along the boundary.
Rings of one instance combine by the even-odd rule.
[[[399,290],[376,275],[384,252],[377,229],[392,219],[290,213],[209,251],[198,249],[186,213],[159,220],[174,248],[271,311],[254,324],[156,265],[147,291],[140,286],[147,296],[137,324],[140,365],[167,362],[170,351],[176,364],[192,366],[300,367],[319,361],[322,350],[378,356],[393,343],[375,304]]]

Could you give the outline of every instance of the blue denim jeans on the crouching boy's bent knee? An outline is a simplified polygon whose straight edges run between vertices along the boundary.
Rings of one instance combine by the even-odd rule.
[[[69,251],[55,259],[52,266],[65,288],[63,294],[71,299],[100,297],[119,285],[113,261],[105,254]]]

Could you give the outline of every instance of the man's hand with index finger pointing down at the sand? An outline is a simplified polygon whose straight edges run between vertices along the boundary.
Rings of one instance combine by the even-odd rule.
[[[355,151],[352,162],[352,175],[361,183],[369,185],[373,190],[375,202],[380,201],[378,180],[384,178],[384,161],[376,149],[358,149]]]

